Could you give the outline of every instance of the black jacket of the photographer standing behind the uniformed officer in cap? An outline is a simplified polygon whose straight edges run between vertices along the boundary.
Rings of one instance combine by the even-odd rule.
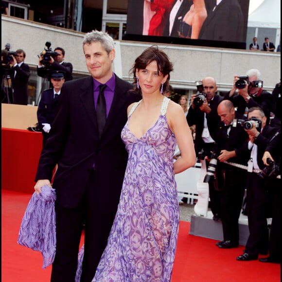
[[[47,77],[48,80],[51,80],[51,73],[53,71],[63,71],[65,81],[72,80],[72,64],[63,62],[62,64],[59,64],[58,62],[54,61],[53,64],[50,65],[50,67],[46,68],[38,68],[37,66],[37,75],[41,77]],[[53,85],[50,85],[50,87],[53,87]]]

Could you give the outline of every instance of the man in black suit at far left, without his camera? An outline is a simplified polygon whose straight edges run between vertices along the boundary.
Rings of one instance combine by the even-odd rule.
[[[28,104],[28,79],[30,76],[29,65],[24,63],[26,53],[22,49],[16,51],[16,58],[12,55],[13,61],[10,70],[12,80],[13,104]]]

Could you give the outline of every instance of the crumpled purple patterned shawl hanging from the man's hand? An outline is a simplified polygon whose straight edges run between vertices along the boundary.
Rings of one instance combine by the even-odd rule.
[[[55,189],[44,185],[41,193],[34,193],[24,213],[18,244],[40,251],[43,268],[53,264],[56,253]]]

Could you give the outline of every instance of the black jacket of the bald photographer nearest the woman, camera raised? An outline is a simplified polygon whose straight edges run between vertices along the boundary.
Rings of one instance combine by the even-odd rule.
[[[218,94],[214,95],[213,100],[210,102],[210,108],[212,111],[206,115],[208,128],[214,141],[216,140],[217,128],[220,122],[220,117],[217,114],[217,106],[222,100],[222,96]],[[199,107],[195,107],[193,109],[192,106],[190,106],[186,119],[189,126],[192,126],[193,124],[196,125],[196,136],[194,146],[195,152],[198,155],[198,153],[202,150],[204,143],[202,139],[202,132],[204,129],[204,112],[201,111]]]

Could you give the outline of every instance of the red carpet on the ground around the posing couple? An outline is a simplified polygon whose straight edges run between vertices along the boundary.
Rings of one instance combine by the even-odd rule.
[[[31,194],[2,190],[2,282],[49,282],[51,266],[42,269],[39,252],[19,246],[20,223]],[[189,235],[180,222],[172,282],[280,282],[280,264],[237,262],[243,246],[219,249],[216,241]]]

